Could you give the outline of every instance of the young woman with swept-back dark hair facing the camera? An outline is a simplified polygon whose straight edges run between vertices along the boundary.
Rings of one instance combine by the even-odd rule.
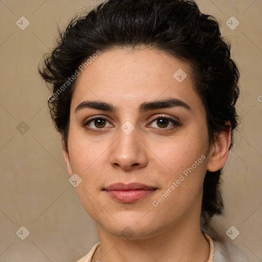
[[[212,16],[193,1],[109,0],[60,32],[39,73],[97,224],[79,261],[242,261],[202,231],[223,210],[239,94]]]

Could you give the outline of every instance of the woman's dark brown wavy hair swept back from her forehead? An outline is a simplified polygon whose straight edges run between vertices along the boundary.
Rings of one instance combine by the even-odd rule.
[[[201,13],[192,0],[109,0],[74,17],[67,29],[59,30],[57,46],[45,56],[39,68],[41,77],[56,94],[49,99],[49,107],[66,146],[75,83],[72,79],[67,82],[69,77],[97,51],[143,46],[188,62],[195,90],[205,106],[210,143],[216,133],[230,128],[227,121],[234,130],[239,71],[230,58],[230,44],[221,36],[216,19]],[[64,85],[66,82],[68,86]],[[61,86],[64,88],[58,92]],[[206,173],[202,200],[204,225],[223,210],[220,175],[221,170]]]

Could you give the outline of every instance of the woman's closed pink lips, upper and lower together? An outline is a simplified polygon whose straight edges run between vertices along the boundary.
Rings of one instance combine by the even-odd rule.
[[[121,203],[134,203],[148,197],[157,188],[141,183],[115,183],[104,190],[113,200]]]

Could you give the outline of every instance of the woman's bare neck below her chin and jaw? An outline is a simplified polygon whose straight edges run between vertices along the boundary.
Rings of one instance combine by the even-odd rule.
[[[199,224],[171,225],[150,238],[125,239],[114,236],[97,226],[100,247],[92,261],[103,262],[205,262],[209,244]]]

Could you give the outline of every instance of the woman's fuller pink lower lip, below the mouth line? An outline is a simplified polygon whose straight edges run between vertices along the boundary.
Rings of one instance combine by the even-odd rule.
[[[139,201],[155,192],[155,189],[137,189],[137,190],[110,190],[107,194],[114,200],[122,203],[133,203]]]

